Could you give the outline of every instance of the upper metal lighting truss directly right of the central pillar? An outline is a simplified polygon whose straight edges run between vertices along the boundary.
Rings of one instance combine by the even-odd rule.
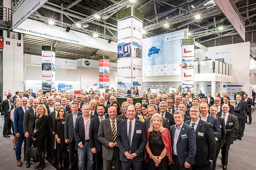
[[[172,25],[172,24],[181,23],[183,21],[188,21],[188,20],[191,20],[191,19],[195,19],[195,15],[200,15],[200,18],[202,19],[204,17],[207,17],[207,15],[218,13],[218,12],[221,12],[221,9],[219,9],[219,7],[209,8],[209,9],[206,9],[204,11],[199,11],[199,12],[196,12],[196,13],[192,13],[192,14],[181,16],[181,17],[177,17],[175,19],[171,19],[169,21],[165,21],[165,22],[162,22],[162,23],[146,26],[146,27],[143,28],[143,30],[144,31],[149,31],[149,30],[152,30],[152,29],[164,27],[164,24]]]

